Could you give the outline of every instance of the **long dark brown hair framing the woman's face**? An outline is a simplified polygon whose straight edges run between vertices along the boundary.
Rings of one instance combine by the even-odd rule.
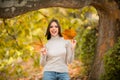
[[[51,25],[52,22],[55,22],[55,23],[57,24],[58,30],[59,30],[59,31],[58,31],[58,35],[59,35],[60,37],[62,37],[62,34],[61,34],[61,26],[60,26],[58,20],[52,19],[52,20],[50,21],[50,23],[48,24],[47,32],[46,32],[46,35],[45,35],[45,36],[47,37],[47,40],[49,40],[49,39],[51,38],[50,25]]]

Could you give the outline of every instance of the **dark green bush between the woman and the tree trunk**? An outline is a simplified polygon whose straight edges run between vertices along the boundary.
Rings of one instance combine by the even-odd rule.
[[[87,76],[91,70],[91,65],[95,54],[97,32],[95,28],[90,27],[87,29],[83,28],[82,30],[83,33],[80,32],[81,36],[79,38],[81,42],[79,43],[76,53],[80,54],[78,58],[80,58],[84,67],[81,75]]]

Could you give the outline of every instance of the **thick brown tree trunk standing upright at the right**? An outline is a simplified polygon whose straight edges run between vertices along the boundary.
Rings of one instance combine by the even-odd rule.
[[[99,14],[99,35],[96,54],[88,80],[100,80],[101,74],[105,72],[104,54],[117,42],[120,37],[120,18],[116,15],[116,5],[95,5]],[[109,8],[112,6],[112,8]],[[111,12],[112,11],[112,12]],[[119,30],[119,31],[118,31]]]

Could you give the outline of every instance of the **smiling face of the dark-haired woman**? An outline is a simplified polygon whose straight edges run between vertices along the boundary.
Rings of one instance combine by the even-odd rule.
[[[50,34],[51,36],[57,36],[58,35],[58,25],[56,22],[52,22],[50,24]]]

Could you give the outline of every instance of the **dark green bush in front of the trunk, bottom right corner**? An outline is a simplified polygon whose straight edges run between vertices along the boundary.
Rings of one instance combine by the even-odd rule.
[[[120,79],[120,38],[118,43],[105,54],[104,68],[105,73],[101,76],[101,80]]]

